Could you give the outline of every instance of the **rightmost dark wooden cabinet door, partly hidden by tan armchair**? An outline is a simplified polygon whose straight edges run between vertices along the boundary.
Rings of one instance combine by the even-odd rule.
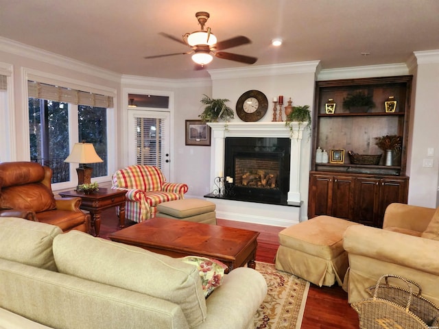
[[[383,226],[385,208],[389,204],[399,202],[407,204],[409,178],[383,178],[379,188],[379,226]]]

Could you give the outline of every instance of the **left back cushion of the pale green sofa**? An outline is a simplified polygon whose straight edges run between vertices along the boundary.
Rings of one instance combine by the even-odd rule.
[[[56,271],[52,243],[58,226],[26,219],[0,218],[0,258]]]

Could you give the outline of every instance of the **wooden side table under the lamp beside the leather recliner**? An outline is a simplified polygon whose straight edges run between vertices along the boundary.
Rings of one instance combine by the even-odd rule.
[[[82,199],[80,208],[91,213],[91,225],[95,229],[95,236],[99,236],[102,210],[119,206],[119,226],[121,228],[125,226],[126,191],[99,187],[98,191],[90,194],[72,190],[61,192],[59,195],[62,197],[80,197]]]

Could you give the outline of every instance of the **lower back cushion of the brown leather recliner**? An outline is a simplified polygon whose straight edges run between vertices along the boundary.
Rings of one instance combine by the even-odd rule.
[[[20,197],[17,197],[18,195]],[[30,209],[40,212],[55,207],[54,195],[43,183],[16,185],[1,189],[0,208],[2,209]]]

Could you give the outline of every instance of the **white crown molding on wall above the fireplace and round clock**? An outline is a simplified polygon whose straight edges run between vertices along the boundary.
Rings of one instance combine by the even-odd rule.
[[[207,71],[211,75],[212,80],[220,80],[236,79],[240,77],[265,77],[298,73],[316,73],[319,64],[319,60],[313,60],[309,62],[237,67],[233,69],[213,69]]]

